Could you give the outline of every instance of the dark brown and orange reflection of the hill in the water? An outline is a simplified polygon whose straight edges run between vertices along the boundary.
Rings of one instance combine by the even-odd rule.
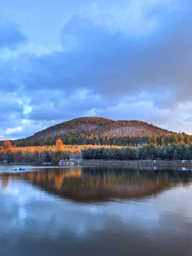
[[[79,202],[142,198],[192,182],[191,171],[170,167],[157,167],[157,170],[138,166],[50,168],[14,176],[29,180],[52,194]]]

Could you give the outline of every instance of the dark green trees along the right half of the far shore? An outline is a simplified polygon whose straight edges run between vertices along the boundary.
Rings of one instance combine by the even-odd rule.
[[[89,147],[82,150],[82,159],[95,160],[192,160],[192,145],[184,143],[168,146],[153,144],[143,147]]]

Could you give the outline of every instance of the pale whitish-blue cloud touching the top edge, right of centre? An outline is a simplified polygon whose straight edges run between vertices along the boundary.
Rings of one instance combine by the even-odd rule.
[[[95,26],[110,33],[121,32],[126,36],[142,37],[152,33],[162,23],[162,18],[180,7],[176,0],[129,0],[124,5],[113,5],[106,10],[94,2],[79,14],[92,20]],[[159,12],[157,10],[161,10]]]

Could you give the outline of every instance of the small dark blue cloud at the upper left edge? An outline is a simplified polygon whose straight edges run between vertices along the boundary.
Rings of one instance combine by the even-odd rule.
[[[13,50],[25,41],[26,36],[18,24],[0,19],[0,48],[6,47]]]

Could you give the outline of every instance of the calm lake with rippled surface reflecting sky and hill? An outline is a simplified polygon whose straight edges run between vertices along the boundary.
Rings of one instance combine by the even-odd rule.
[[[192,171],[0,165],[0,255],[192,255]]]

